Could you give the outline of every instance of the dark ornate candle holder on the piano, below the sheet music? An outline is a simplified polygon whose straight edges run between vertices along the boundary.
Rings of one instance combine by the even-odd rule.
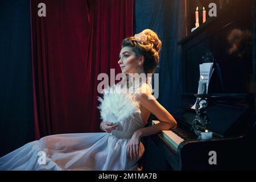
[[[207,94],[194,94],[195,97],[199,98],[196,102],[196,117],[192,121],[192,128],[191,130],[200,137],[201,131],[205,131],[207,129],[207,125],[209,122],[209,118],[207,116]],[[202,106],[200,108],[200,105]]]

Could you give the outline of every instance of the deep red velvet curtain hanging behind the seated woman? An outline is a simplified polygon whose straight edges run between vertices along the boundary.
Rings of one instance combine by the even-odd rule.
[[[46,4],[46,17],[38,4]],[[31,0],[36,139],[100,131],[99,73],[121,72],[123,38],[133,35],[134,0]]]

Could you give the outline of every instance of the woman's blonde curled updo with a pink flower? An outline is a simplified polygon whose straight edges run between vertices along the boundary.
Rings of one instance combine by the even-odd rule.
[[[146,74],[155,73],[162,42],[154,31],[145,29],[139,34],[123,39],[122,48],[126,46],[131,47],[137,57],[144,56],[143,69]]]

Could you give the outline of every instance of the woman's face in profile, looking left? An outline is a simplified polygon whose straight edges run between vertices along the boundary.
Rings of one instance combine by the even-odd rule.
[[[131,47],[123,47],[119,57],[118,64],[121,67],[122,73],[137,73],[139,61]]]

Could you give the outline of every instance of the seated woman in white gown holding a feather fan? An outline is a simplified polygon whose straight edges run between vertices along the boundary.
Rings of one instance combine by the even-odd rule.
[[[129,82],[108,87],[104,97],[99,97],[100,127],[105,133],[43,137],[0,158],[0,170],[136,169],[144,154],[141,138],[176,127],[172,115],[152,96],[150,77],[141,77],[154,73],[161,46],[149,29],[123,40],[118,64],[125,75],[135,74]],[[150,113],[161,122],[144,127]]]

